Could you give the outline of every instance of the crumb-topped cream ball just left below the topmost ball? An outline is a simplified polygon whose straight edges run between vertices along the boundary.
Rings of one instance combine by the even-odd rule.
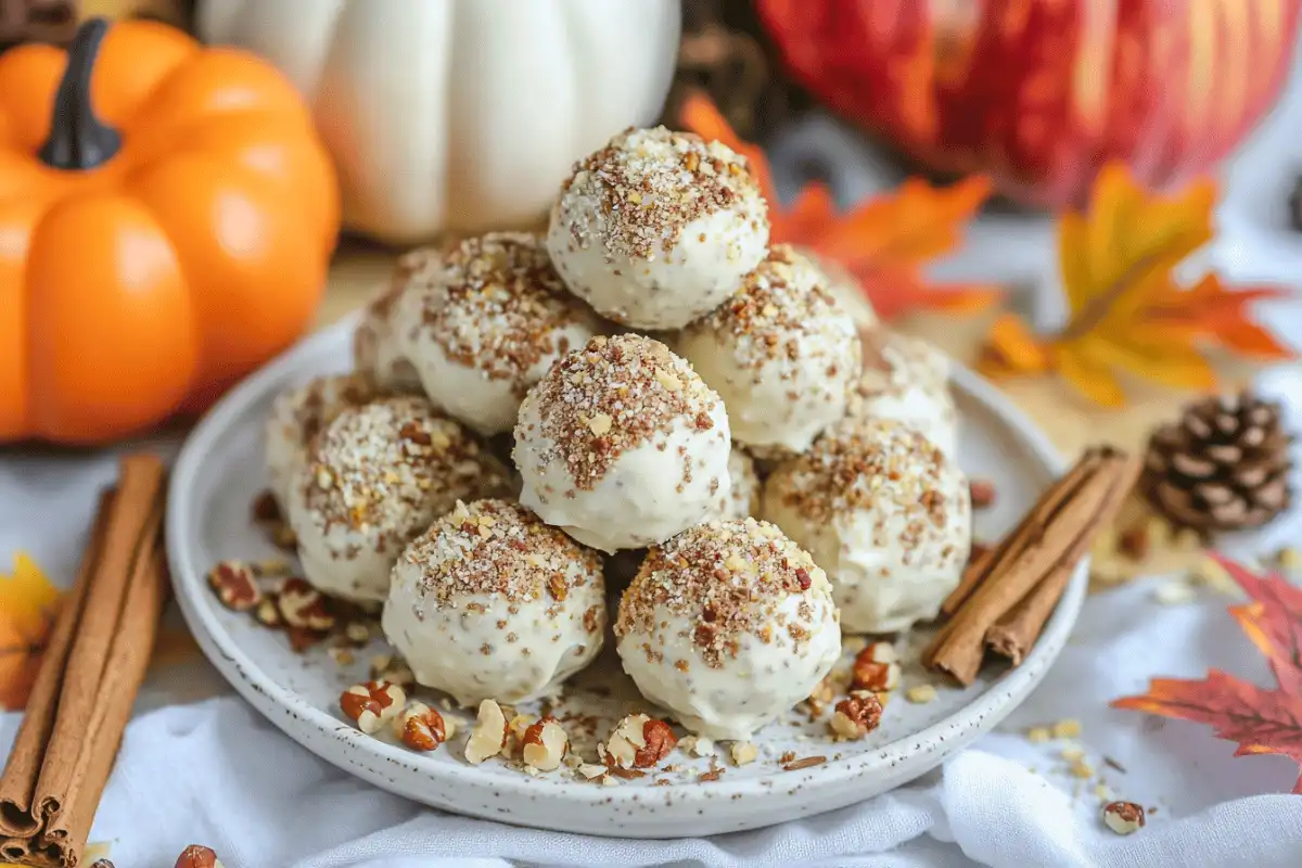
[[[398,301],[402,353],[435,405],[480,433],[510,431],[547,368],[602,331],[539,236],[466,238]]]

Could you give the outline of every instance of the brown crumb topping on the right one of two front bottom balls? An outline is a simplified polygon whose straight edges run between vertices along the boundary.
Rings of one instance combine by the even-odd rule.
[[[789,618],[780,604],[811,590],[829,595],[827,576],[776,526],[754,518],[698,524],[651,548],[620,600],[615,635],[654,634],[663,606],[689,621],[700,657],[719,668],[737,656],[746,634],[766,644],[775,631],[797,645],[806,642],[801,619],[812,619],[809,601],[801,601],[799,618]]]

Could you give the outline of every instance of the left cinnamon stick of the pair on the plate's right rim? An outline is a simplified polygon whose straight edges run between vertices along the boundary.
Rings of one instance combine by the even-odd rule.
[[[1053,570],[1072,567],[1085,556],[1103,524],[1111,522],[1104,510],[1112,502],[1116,488],[1129,487],[1137,472],[1137,462],[1113,450],[1099,450],[1098,454],[1091,450],[1082,459],[1082,463],[1086,462],[1096,465],[1095,470],[1061,501],[1051,521],[1032,532],[1016,557],[1005,554],[941,627],[923,656],[927,666],[970,685],[980,669],[987,630]],[[1042,498],[1032,513],[1042,514],[1052,497],[1057,497],[1057,489]],[[1009,550],[1016,545],[1016,541],[1010,544]]]

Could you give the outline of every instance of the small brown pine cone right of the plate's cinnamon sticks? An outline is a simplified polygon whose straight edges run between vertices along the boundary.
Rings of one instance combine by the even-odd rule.
[[[1154,432],[1141,485],[1178,526],[1202,534],[1259,527],[1293,498],[1292,442],[1280,405],[1251,392],[1204,398]]]

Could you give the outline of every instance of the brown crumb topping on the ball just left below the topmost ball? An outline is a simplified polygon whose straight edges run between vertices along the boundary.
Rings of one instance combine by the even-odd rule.
[[[514,381],[521,397],[534,366],[570,350],[557,332],[585,315],[531,233],[466,238],[423,282],[422,324],[443,353],[490,379]]]

